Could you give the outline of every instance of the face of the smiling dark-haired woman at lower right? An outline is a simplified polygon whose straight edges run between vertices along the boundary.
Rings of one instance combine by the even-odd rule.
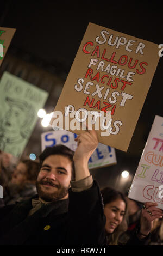
[[[104,214],[106,217],[105,230],[111,234],[121,224],[126,209],[126,203],[120,198],[112,201],[104,206]]]

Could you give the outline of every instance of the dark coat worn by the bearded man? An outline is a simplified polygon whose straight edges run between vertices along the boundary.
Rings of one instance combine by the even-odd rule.
[[[46,204],[30,216],[32,199],[1,208],[0,244],[104,244],[105,216],[96,182],[89,190],[73,192],[70,188],[68,192],[69,202],[65,199]]]

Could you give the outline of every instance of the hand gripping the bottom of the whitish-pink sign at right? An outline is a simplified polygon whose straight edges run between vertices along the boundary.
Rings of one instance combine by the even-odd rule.
[[[143,205],[141,211],[141,220],[140,220],[140,233],[139,237],[141,239],[145,238],[153,228],[153,221],[156,218],[162,218],[163,211],[157,208],[157,203],[146,202]]]

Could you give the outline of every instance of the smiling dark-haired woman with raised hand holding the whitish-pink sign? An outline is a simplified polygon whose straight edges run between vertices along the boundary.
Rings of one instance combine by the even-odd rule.
[[[163,211],[155,203],[146,202],[141,211],[139,224],[130,237],[122,243],[120,236],[127,230],[127,201],[120,191],[106,187],[102,191],[104,213],[106,216],[105,231],[108,245],[144,245],[149,239],[153,221],[163,216]],[[123,240],[124,242],[124,240]]]

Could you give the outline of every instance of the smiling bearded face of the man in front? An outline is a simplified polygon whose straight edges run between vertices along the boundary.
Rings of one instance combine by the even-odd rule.
[[[68,198],[72,163],[68,157],[50,155],[42,163],[36,187],[39,197],[46,202]]]

